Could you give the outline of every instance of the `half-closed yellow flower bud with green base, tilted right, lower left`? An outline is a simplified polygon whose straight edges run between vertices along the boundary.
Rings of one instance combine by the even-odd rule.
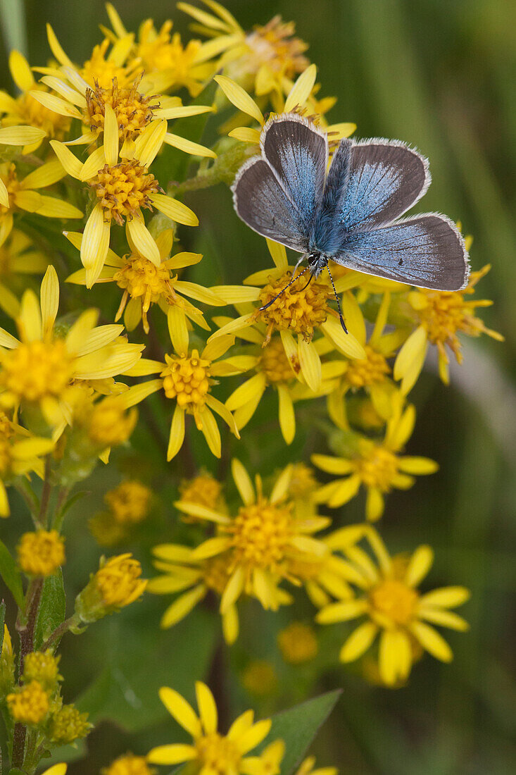
[[[102,558],[97,573],[75,600],[81,620],[96,622],[138,600],[147,585],[141,575],[142,567],[130,553]]]

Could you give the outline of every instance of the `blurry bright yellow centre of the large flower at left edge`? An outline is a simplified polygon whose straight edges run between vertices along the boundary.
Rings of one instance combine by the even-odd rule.
[[[74,373],[62,339],[22,343],[2,353],[2,367],[0,385],[24,401],[59,398]]]

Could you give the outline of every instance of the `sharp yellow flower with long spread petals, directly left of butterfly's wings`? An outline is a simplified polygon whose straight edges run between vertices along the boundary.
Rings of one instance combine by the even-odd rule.
[[[87,182],[97,204],[84,228],[81,261],[86,269],[88,288],[101,274],[108,257],[112,221],[126,223],[126,236],[131,250],[160,266],[160,249],[143,220],[142,208],[157,208],[168,218],[187,226],[198,226],[198,218],[182,202],[163,194],[160,184],[149,171],[167,133],[167,121],[151,122],[140,133],[132,147],[119,158],[119,129],[111,105],[105,105],[103,144],[81,164],[71,150],[51,140],[53,150],[71,177]]]

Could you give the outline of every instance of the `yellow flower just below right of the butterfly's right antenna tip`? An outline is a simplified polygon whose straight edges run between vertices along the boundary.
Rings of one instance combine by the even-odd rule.
[[[355,296],[349,291],[342,296],[342,313],[346,319],[346,327],[363,346],[366,357],[348,360],[343,364],[342,376],[335,374],[336,385],[328,397],[328,412],[335,425],[341,429],[349,428],[344,400],[348,391],[366,391],[377,414],[384,420],[393,414],[392,394],[395,388],[390,379],[388,359],[403,341],[404,332],[395,330],[384,333],[389,305],[390,291],[385,291],[373,330],[367,340],[366,322]]]

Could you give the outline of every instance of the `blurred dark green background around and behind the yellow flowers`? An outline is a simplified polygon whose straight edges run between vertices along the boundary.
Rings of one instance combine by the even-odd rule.
[[[152,16],[157,26],[174,19],[174,29],[187,33],[187,19],[174,2],[118,0],[114,5],[127,29],[136,30]],[[318,65],[321,94],[338,97],[330,122],[356,122],[358,136],[399,138],[429,157],[433,182],[421,208],[445,212],[474,236],[473,269],[493,265],[477,288],[480,298],[494,300],[482,316],[506,337],[505,344],[487,337],[464,341],[465,363],[452,368],[449,388],[428,363],[412,396],[418,422],[408,452],[433,457],[441,469],[434,477],[419,479],[411,491],[392,494],[380,525],[392,551],[411,550],[419,543],[434,546],[432,586],[470,587],[472,600],[463,614],[471,631],[449,635],[455,653],[451,666],[427,657],[415,666],[408,686],[395,691],[366,684],[349,671],[325,670],[322,679],[309,684],[311,693],[335,686],[344,691],[316,743],[318,762],[335,764],[346,773],[516,772],[516,696],[511,691],[516,654],[516,4],[226,0],[225,5],[245,29],[275,14],[296,22],[298,36],[310,44],[308,57]],[[108,24],[101,0],[27,0],[26,18],[33,65],[45,64],[49,56],[46,21],[75,61],[87,58],[101,40],[98,24]],[[12,89],[5,50],[0,80],[2,88]],[[192,196],[191,204],[202,231],[187,250],[205,253],[202,271],[212,272],[214,281],[239,283],[265,265],[263,245],[236,219],[229,191],[202,192]],[[284,447],[278,447],[273,462],[281,463],[281,449],[284,454]],[[299,449],[300,457],[302,453]],[[345,521],[359,520],[362,508],[346,508]],[[79,513],[75,520],[77,537],[67,540],[67,553],[78,579],[81,566],[94,566],[97,549],[81,534]],[[189,680],[181,675],[191,674],[190,663],[174,663],[174,644],[186,639],[197,649],[190,660],[198,675],[207,670],[210,646],[200,641],[199,633],[208,632],[202,629],[208,622],[201,616],[180,625],[173,636],[157,636],[162,610],[161,601],[152,599],[146,620],[141,621],[142,611],[128,611],[116,631],[112,622],[102,622],[91,637],[76,642],[69,636],[62,672],[70,698],[100,671],[108,649],[119,649],[122,664],[127,649],[138,648],[143,661],[152,653],[163,667],[158,685],[174,680],[186,690]],[[267,654],[265,619],[260,628],[261,646],[247,636],[247,646],[258,649],[256,658]],[[132,639],[136,631],[148,631],[147,640]],[[243,642],[232,656],[237,671],[247,646]],[[299,701],[294,684],[311,678],[289,675],[285,680],[292,685],[283,695],[275,700],[251,696],[251,704],[270,712]],[[126,679],[122,670],[114,678],[121,691],[126,691]],[[244,690],[233,694],[231,715],[249,705]],[[116,718],[115,712],[111,717]],[[97,773],[110,756],[127,749],[143,753],[167,741],[170,722],[157,727],[154,722],[163,722],[159,714],[141,718],[140,724],[138,718],[136,704],[130,722],[99,725],[88,738],[88,763],[74,763],[71,775]]]

